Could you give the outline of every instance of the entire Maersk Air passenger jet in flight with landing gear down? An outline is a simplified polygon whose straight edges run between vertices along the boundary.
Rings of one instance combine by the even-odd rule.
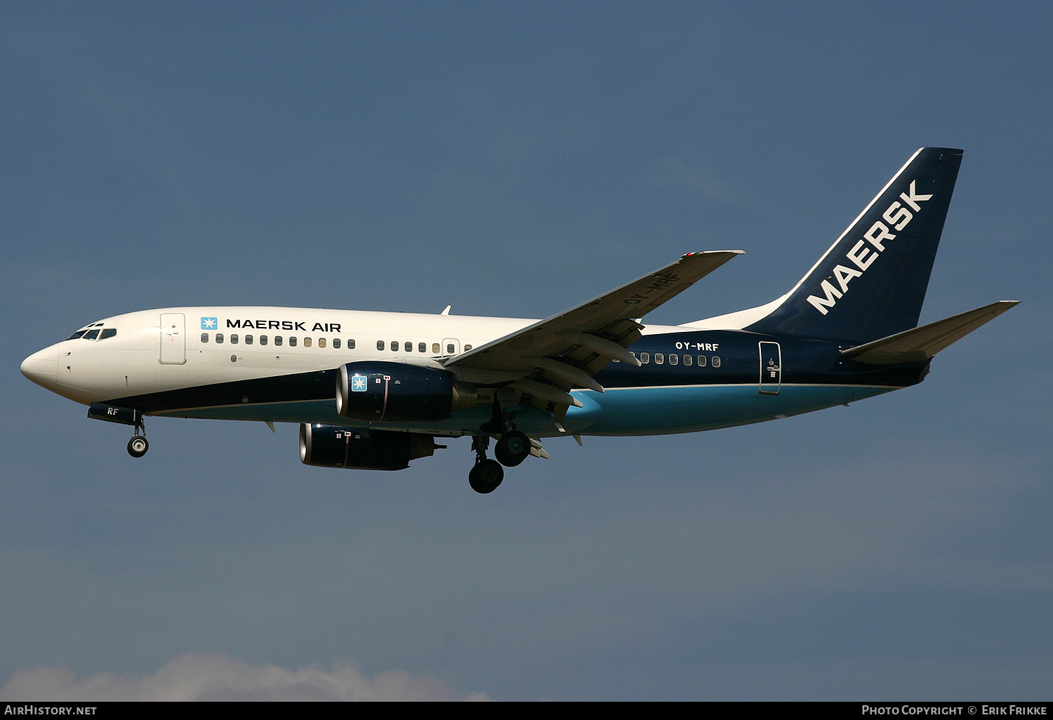
[[[917,326],[962,151],[922,147],[789,293],[681,325],[642,318],[742,251],[690,253],[543,320],[296,307],[167,307],[81,327],[22,374],[134,427],[146,416],[300,424],[309,465],[397,471],[472,438],[494,491],[542,439],[786,418],[915,385],[1018,301]],[[490,440],[494,458],[488,458]]]

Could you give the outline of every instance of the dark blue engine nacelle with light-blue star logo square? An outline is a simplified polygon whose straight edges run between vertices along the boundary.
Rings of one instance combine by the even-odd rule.
[[[442,420],[477,399],[449,373],[402,362],[349,362],[336,381],[336,412],[363,422]]]

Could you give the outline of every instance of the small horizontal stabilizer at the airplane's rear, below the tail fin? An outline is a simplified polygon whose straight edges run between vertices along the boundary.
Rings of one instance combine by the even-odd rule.
[[[999,300],[961,315],[850,347],[841,351],[841,355],[850,360],[867,362],[872,365],[928,360],[951,343],[957,342],[984,323],[995,319],[1017,304],[1019,304],[1019,300]]]

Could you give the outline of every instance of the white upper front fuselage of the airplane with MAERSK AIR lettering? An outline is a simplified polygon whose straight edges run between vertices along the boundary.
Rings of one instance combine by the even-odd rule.
[[[216,318],[216,326],[204,327],[202,318]],[[45,347],[25,359],[22,372],[37,384],[87,405],[144,393],[335,369],[359,360],[418,363],[457,355],[534,322],[302,307],[168,307],[92,323],[88,332],[116,333]],[[675,329],[651,325],[647,333]]]

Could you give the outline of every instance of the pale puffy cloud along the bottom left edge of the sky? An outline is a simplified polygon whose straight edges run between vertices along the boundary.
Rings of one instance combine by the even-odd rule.
[[[453,701],[490,700],[482,693],[460,697],[436,678],[405,671],[378,673],[372,678],[352,664],[289,671],[277,665],[251,665],[227,655],[188,654],[152,676],[97,673],[79,679],[68,669],[45,667],[15,673],[0,689],[5,701]]]

